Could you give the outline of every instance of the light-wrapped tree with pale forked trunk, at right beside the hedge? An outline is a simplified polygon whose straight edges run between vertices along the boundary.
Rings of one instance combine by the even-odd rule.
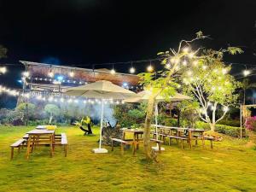
[[[200,118],[207,122],[211,131],[229,110],[229,106],[236,103],[238,95],[236,88],[240,84],[229,74],[230,66],[226,67],[223,61],[224,53],[241,53],[241,49],[228,48],[221,50],[204,50],[192,63],[193,67],[182,74],[184,90],[192,94],[200,103]],[[223,110],[217,119],[216,112]]]

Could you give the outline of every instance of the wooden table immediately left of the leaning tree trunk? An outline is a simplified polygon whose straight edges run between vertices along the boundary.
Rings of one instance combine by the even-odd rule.
[[[122,129],[123,131],[123,140],[125,140],[125,133],[132,133],[132,154],[135,154],[136,150],[139,148],[139,142],[143,140],[143,130],[136,130],[136,129]],[[139,137],[140,136],[140,137]]]

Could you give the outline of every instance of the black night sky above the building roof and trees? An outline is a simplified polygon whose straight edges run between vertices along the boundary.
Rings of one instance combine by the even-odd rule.
[[[0,44],[9,52],[0,63],[17,66],[0,79],[17,86],[20,60],[91,68],[91,63],[155,58],[199,30],[211,35],[203,44],[208,48],[245,50],[227,61],[256,65],[255,10],[253,0],[2,0]],[[134,65],[142,71],[147,66]],[[129,67],[115,68],[127,73]]]

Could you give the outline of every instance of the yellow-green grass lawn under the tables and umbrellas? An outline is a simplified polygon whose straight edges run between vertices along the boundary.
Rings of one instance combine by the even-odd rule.
[[[67,133],[67,158],[61,147],[53,158],[49,148],[40,147],[30,160],[24,148],[10,161],[9,145],[30,130],[0,127],[0,191],[256,191],[256,150],[246,140],[224,137],[213,150],[208,142],[204,149],[201,143],[192,150],[164,146],[160,163],[147,163],[143,148],[136,156],[131,149],[121,156],[119,147],[92,154],[98,135],[61,127],[57,132]]]

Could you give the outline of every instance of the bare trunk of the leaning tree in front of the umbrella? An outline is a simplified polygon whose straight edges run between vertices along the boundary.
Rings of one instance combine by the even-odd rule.
[[[144,153],[147,160],[151,160],[151,146],[150,146],[150,126],[151,120],[153,118],[154,113],[154,102],[155,96],[149,96],[148,98],[148,108],[147,108],[147,115],[145,119],[145,127],[144,127]]]

